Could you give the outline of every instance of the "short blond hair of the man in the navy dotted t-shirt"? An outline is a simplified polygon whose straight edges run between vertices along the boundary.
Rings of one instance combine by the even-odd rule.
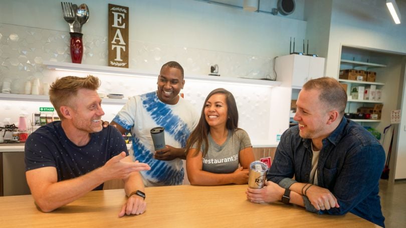
[[[54,81],[49,89],[49,99],[54,105],[59,117],[64,119],[60,111],[61,106],[72,106],[72,101],[80,88],[97,90],[100,86],[99,78],[88,75],[87,77],[65,76]]]

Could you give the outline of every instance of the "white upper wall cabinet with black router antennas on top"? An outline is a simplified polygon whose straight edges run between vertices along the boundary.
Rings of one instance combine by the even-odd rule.
[[[306,81],[324,76],[323,57],[289,54],[277,57],[275,71],[277,78],[291,79],[292,88],[301,88]]]

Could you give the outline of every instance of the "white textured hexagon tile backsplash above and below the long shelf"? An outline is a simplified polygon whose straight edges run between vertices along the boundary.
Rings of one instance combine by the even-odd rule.
[[[86,34],[83,37],[82,63],[107,65],[107,37]],[[0,23],[0,82],[10,79],[12,93],[24,93],[25,82],[32,81],[34,78],[39,78],[41,86],[43,86],[43,83],[52,83],[57,77],[65,75],[85,76],[86,73],[50,70],[42,64],[44,60],[71,62],[69,40],[69,33],[65,31]],[[161,65],[170,60],[178,61],[184,67],[185,75],[207,75],[213,64],[218,64],[220,74],[227,77],[262,78],[270,74],[272,70],[271,57],[147,43],[138,40],[130,40],[130,48],[129,67],[142,72],[156,72],[157,75]],[[101,79],[102,85],[99,91],[104,93],[120,93],[128,97],[156,89],[156,79],[154,78],[95,75]],[[271,123],[269,97],[272,94],[272,88],[270,87],[186,80],[182,92],[185,98],[200,111],[207,94],[217,87],[225,87],[233,92],[240,113],[240,127],[249,132],[253,141],[266,142],[273,138],[269,135],[268,126],[272,125],[279,129],[287,128],[287,120],[286,123],[281,123],[280,120]],[[42,87],[40,91],[42,94]],[[289,96],[289,94],[286,95]],[[0,113],[0,121],[5,117],[11,117],[12,121],[17,122],[20,113],[31,115],[38,111],[39,106],[50,106],[51,104],[44,101],[0,100],[0,105],[3,109]],[[105,119],[111,120],[121,106],[122,104],[103,105],[106,112]]]

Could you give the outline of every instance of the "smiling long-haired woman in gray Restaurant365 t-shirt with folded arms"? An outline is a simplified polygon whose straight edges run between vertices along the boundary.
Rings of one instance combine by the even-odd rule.
[[[186,145],[186,170],[191,184],[248,183],[249,165],[255,158],[250,137],[237,124],[233,94],[224,88],[211,91]]]

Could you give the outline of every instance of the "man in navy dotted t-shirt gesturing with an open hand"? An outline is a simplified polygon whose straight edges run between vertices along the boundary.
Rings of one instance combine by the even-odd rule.
[[[97,77],[66,76],[50,88],[60,121],[48,123],[26,141],[26,177],[37,206],[44,212],[66,205],[110,179],[123,179],[128,196],[119,216],[141,214],[146,203],[138,171],[148,164],[133,162],[121,133],[103,128]]]

